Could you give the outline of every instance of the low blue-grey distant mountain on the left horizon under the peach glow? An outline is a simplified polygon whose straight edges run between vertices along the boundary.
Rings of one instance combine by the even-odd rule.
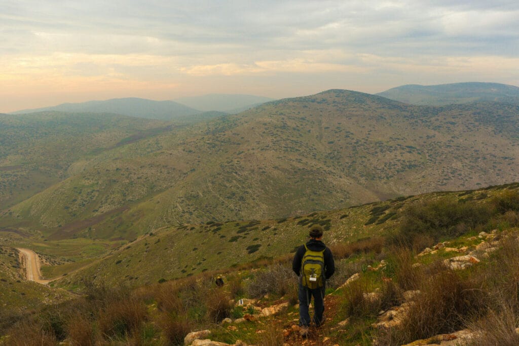
[[[43,111],[69,113],[115,113],[145,119],[172,120],[178,117],[202,113],[173,101],[153,101],[138,98],[63,103],[58,106],[19,110],[12,114],[35,113]]]

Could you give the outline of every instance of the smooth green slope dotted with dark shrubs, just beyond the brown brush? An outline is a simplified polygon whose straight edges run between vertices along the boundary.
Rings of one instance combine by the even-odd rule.
[[[314,223],[329,228],[324,236],[326,244],[352,242],[392,232],[398,227],[400,211],[406,205],[444,197],[484,201],[507,189],[519,189],[519,185],[435,192],[281,220],[166,227],[121,246],[84,270],[67,275],[59,285],[75,286],[82,278],[93,278],[95,282],[138,286],[205,270],[225,271],[257,259],[293,252],[306,241],[308,227]]]

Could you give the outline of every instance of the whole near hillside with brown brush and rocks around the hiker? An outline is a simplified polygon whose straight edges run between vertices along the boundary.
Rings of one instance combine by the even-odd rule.
[[[336,270],[326,284],[326,324],[311,327],[305,341],[290,262],[314,224],[325,229]],[[1,246],[0,343],[169,345],[209,329],[203,339],[229,345],[416,341],[411,346],[469,337],[475,344],[514,344],[518,226],[514,183],[288,219],[166,227],[108,253],[107,242],[34,242],[44,270],[61,272],[50,287],[23,280],[16,252]],[[81,244],[104,252],[90,253],[83,268],[60,263]],[[216,274],[224,287],[214,285]]]

